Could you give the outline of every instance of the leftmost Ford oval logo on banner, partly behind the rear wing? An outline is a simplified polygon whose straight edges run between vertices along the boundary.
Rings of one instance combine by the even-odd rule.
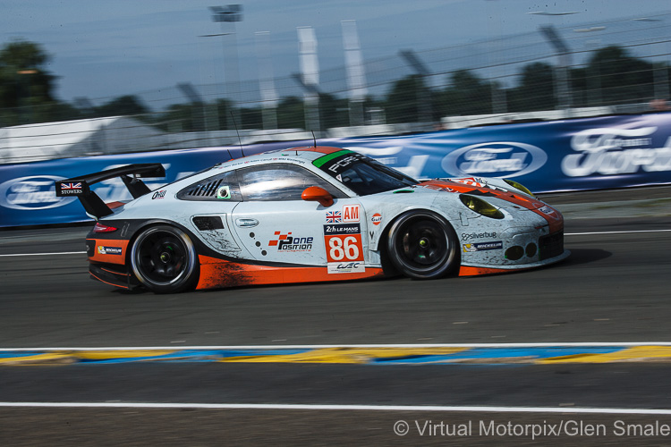
[[[0,184],[0,206],[20,210],[63,207],[76,197],[56,197],[55,181],[63,177],[33,175]]]

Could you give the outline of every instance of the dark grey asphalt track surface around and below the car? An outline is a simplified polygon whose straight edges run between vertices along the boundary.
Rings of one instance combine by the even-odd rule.
[[[668,188],[544,197],[565,214],[565,262],[519,274],[126,294],[90,281],[88,228],[0,232],[0,348],[230,345],[671,342]],[[624,424],[671,415],[576,414],[572,409],[671,409],[671,366],[166,364],[0,367],[2,402],[193,402],[475,406],[481,410],[2,408],[4,445],[107,444],[660,444],[620,435]],[[394,433],[398,420],[410,432]],[[420,435],[467,424],[471,433]],[[482,435],[511,422],[605,427],[532,439]],[[545,422],[544,422],[545,421]],[[498,426],[498,425],[497,425]],[[570,424],[567,426],[571,426]],[[26,430],[30,427],[30,430]],[[573,427],[573,426],[571,426]],[[600,427],[600,426],[599,426]],[[635,428],[633,431],[635,432]],[[654,430],[653,430],[654,431]],[[663,430],[662,430],[663,431]],[[505,430],[504,430],[505,432]],[[501,432],[503,433],[503,432]]]

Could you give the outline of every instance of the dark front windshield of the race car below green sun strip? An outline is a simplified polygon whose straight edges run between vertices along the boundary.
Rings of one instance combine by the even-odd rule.
[[[313,164],[359,196],[398,190],[418,181],[350,150],[322,156]]]

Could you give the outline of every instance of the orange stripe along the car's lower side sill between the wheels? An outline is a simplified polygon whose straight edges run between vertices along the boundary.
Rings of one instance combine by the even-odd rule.
[[[328,274],[327,267],[253,266],[199,256],[200,280],[196,289],[235,287],[246,284],[319,283],[382,276],[381,268],[366,268],[360,274]]]

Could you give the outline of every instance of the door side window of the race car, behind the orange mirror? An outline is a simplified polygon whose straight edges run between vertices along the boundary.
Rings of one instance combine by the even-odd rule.
[[[291,164],[265,164],[241,169],[238,172],[242,199],[247,200],[301,200],[303,190],[319,186],[334,198],[347,196],[327,181],[307,169]]]

